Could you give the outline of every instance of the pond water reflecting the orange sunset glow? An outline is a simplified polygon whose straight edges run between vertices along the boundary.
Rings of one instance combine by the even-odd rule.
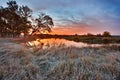
[[[35,41],[27,42],[27,46],[30,47],[41,47],[41,48],[47,48],[51,46],[58,46],[64,44],[66,47],[74,46],[74,47],[100,47],[100,46],[112,46],[112,45],[118,45],[120,44],[87,44],[83,42],[75,42],[75,41],[69,41],[65,39],[36,39]]]

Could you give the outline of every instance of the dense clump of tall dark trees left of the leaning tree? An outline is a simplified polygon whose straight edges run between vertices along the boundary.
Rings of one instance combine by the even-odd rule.
[[[1,36],[19,36],[20,33],[27,34],[31,28],[27,18],[32,10],[27,6],[19,7],[16,1],[7,2],[7,7],[0,8],[0,34]]]

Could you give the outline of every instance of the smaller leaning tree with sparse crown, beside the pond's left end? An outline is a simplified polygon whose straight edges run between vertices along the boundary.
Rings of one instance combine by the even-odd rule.
[[[53,20],[49,15],[41,13],[37,19],[35,19],[37,22],[36,27],[34,27],[32,35],[34,35],[36,32],[44,33],[45,31],[51,32],[52,26],[54,26]]]

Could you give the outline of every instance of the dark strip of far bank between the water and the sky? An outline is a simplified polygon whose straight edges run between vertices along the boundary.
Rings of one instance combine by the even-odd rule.
[[[67,39],[75,42],[84,42],[88,44],[109,44],[109,43],[120,43],[120,36],[96,36],[96,35],[49,35],[49,34],[39,34],[36,35],[38,38],[59,38]]]

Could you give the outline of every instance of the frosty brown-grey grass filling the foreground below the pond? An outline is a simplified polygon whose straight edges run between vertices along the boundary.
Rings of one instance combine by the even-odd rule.
[[[0,46],[0,80],[119,80],[119,46],[55,44],[36,51],[11,44]]]

